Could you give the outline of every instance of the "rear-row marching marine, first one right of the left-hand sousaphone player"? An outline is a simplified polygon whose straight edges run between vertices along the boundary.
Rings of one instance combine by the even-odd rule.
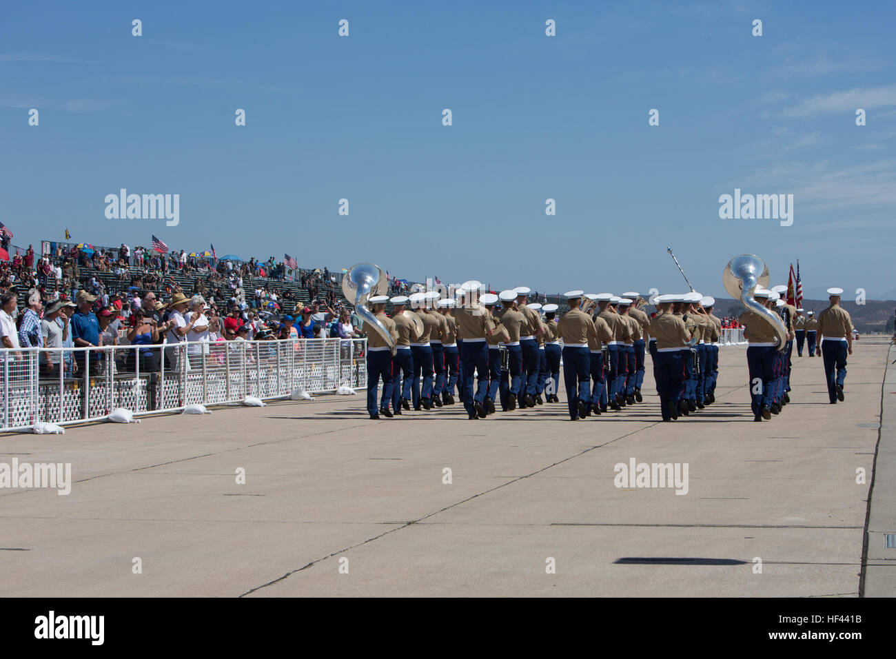
[[[473,395],[473,374],[476,373],[480,386],[479,392],[485,394],[481,386],[488,379],[488,346],[486,338],[495,330],[495,323],[487,309],[479,304],[478,292],[482,284],[476,281],[464,282],[463,303],[454,310],[457,322],[457,335],[461,340],[461,373],[463,375],[463,407],[468,418],[485,419],[486,410],[482,399]],[[478,396],[477,392],[477,396]]]

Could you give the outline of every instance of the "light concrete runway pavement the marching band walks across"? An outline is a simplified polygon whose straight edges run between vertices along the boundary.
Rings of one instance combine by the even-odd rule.
[[[648,364],[644,403],[586,421],[565,402],[370,421],[358,395],[5,436],[0,462],[71,463],[74,483],[0,490],[0,595],[856,596],[888,346],[856,343],[837,405],[795,356],[793,403],[763,423],[745,349],[720,352],[717,402],[672,423]],[[686,463],[687,493],[616,487],[631,459]],[[896,593],[894,499],[869,594]]]

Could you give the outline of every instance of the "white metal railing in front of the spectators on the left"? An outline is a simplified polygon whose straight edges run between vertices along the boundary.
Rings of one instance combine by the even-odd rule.
[[[60,369],[60,364],[62,368]],[[366,387],[366,339],[0,350],[0,432]]]

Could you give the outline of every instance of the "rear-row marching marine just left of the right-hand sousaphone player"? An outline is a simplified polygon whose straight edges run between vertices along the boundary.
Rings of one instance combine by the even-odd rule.
[[[659,411],[663,421],[678,418],[682,390],[685,387],[684,348],[693,344],[691,333],[681,316],[672,313],[674,294],[659,295],[656,299],[657,315],[650,318],[650,336],[657,339],[657,356],[653,373],[657,380]]]

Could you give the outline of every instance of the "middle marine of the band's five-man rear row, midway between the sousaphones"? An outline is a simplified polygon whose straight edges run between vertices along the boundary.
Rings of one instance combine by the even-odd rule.
[[[579,308],[582,294],[582,290],[570,290],[566,293],[570,309],[557,323],[557,331],[564,343],[563,376],[566,386],[566,403],[569,406],[570,419],[573,421],[590,416],[588,340],[596,332],[594,321]]]

